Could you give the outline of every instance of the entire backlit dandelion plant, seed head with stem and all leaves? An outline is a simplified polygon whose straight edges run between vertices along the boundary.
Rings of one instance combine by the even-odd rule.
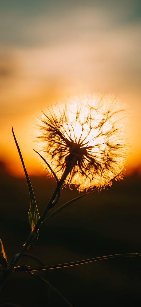
[[[38,139],[41,141],[41,149],[44,151],[47,161],[40,153],[37,151],[36,153],[46,164],[49,174],[56,179],[57,186],[41,216],[39,216],[32,185],[12,127],[13,137],[29,188],[30,208],[28,220],[31,232],[24,243],[23,249],[19,254],[13,256],[9,266],[0,239],[1,289],[9,274],[27,272],[45,282],[69,306],[72,306],[49,281],[35,272],[115,257],[136,257],[141,255],[141,253],[115,254],[51,266],[44,266],[42,261],[40,261],[41,266],[17,266],[19,259],[22,255],[25,255],[25,251],[38,239],[39,229],[43,223],[47,223],[69,204],[93,193],[96,189],[111,185],[113,179],[117,180],[123,177],[127,156],[127,145],[124,137],[125,110],[125,107],[114,99],[112,95],[103,97],[98,94],[72,97],[65,104],[54,105],[48,108],[46,113],[43,112],[38,127]],[[65,186],[75,185],[79,192],[83,192],[85,189],[90,189],[90,191],[62,204],[46,217],[50,209],[57,204],[63,183],[65,183]],[[33,255],[30,255],[30,257],[35,258]]]

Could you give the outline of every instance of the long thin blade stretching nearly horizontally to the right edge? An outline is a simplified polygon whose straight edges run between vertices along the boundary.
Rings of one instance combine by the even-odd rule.
[[[140,253],[126,253],[126,254],[113,254],[113,255],[107,255],[107,256],[99,256],[95,258],[90,258],[90,259],[84,259],[84,260],[79,260],[75,262],[68,262],[68,263],[61,263],[61,264],[54,264],[51,266],[17,266],[14,267],[15,272],[33,272],[33,271],[43,271],[43,270],[53,270],[53,269],[59,269],[59,268],[65,268],[68,266],[78,266],[80,264],[84,263],[90,263],[90,262],[95,262],[99,260],[106,260],[106,259],[111,259],[111,258],[124,258],[124,257],[141,257],[141,252]]]

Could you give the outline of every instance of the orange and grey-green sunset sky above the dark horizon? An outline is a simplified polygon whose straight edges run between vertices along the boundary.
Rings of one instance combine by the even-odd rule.
[[[77,94],[113,94],[127,104],[128,169],[141,168],[139,0],[0,3],[1,157],[24,176],[43,174],[33,149],[41,109]]]

